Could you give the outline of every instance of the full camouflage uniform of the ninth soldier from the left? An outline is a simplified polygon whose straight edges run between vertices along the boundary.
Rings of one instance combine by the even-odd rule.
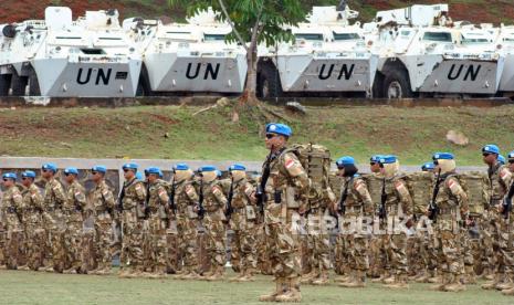
[[[219,280],[224,273],[224,264],[227,263],[227,229],[224,225],[227,218],[223,212],[227,207],[227,198],[218,180],[202,183],[200,191],[203,194],[202,204],[206,210],[202,219],[208,239],[206,251],[211,257],[213,271],[212,276],[208,276],[208,278]]]

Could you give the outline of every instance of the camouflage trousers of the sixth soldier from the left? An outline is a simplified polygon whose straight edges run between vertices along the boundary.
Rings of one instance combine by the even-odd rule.
[[[138,219],[136,209],[124,210],[122,215],[122,255],[120,266],[127,269],[144,269],[144,240],[146,238],[146,224]]]

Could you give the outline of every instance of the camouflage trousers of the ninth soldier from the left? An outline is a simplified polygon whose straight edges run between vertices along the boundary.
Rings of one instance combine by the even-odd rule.
[[[207,254],[211,257],[211,266],[223,266],[227,263],[227,228],[219,212],[206,213],[203,227],[207,234]]]

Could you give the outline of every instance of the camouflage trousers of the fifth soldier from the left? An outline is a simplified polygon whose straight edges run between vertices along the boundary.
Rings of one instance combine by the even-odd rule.
[[[113,224],[95,219],[95,264],[98,269],[111,269],[113,264]]]

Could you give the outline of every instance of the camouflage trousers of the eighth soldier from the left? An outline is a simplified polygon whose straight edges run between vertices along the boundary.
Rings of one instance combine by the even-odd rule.
[[[197,222],[197,219],[186,215],[177,217],[179,256],[182,259],[183,267],[189,272],[199,271]]]

